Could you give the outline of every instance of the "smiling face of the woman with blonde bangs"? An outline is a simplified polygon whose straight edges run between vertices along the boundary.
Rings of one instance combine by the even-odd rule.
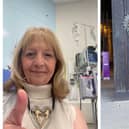
[[[47,84],[55,71],[56,57],[52,47],[43,41],[32,42],[22,55],[22,68],[27,83]]]

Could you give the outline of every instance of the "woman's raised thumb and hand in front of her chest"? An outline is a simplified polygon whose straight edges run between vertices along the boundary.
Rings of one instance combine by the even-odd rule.
[[[17,93],[16,105],[4,122],[4,129],[25,129],[22,127],[22,118],[28,103],[27,94],[20,89]]]

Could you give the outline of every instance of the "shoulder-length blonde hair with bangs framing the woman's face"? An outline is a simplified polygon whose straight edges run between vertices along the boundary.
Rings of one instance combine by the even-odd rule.
[[[54,33],[47,28],[29,28],[18,46],[15,48],[13,63],[11,67],[11,78],[5,83],[4,89],[9,91],[12,85],[15,85],[16,90],[23,88],[25,83],[24,73],[21,66],[21,56],[25,48],[34,40],[43,40],[52,46],[56,57],[56,68],[51,79],[52,94],[55,98],[63,99],[69,93],[68,83],[64,76],[66,73],[65,61],[59,47],[59,42]]]

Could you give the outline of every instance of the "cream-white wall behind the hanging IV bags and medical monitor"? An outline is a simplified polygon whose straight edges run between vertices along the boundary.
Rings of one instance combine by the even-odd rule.
[[[75,53],[86,47],[83,26],[80,29],[79,43],[75,42],[73,38],[72,27],[73,23],[76,22],[95,26],[95,33],[97,34],[97,0],[81,0],[80,2],[56,5],[56,31],[66,60],[68,76],[69,73],[73,72]],[[87,40],[90,38],[88,35],[89,33],[87,33]],[[88,40],[87,44],[96,44],[96,42]]]

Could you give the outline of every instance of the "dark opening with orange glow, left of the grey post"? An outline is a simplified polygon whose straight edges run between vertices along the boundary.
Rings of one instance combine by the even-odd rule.
[[[102,53],[109,55],[109,78],[113,79],[113,42],[112,42],[112,10],[111,0],[101,0],[101,78],[103,77]],[[108,78],[108,79],[109,79]]]

